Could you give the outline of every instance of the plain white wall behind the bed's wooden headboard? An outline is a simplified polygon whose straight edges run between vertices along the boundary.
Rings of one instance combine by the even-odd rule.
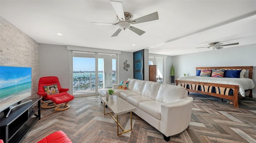
[[[254,66],[252,79],[256,84],[256,44],[173,56],[172,61],[175,79],[183,76],[183,73],[196,75],[196,67]],[[256,88],[252,92],[256,98]]]

